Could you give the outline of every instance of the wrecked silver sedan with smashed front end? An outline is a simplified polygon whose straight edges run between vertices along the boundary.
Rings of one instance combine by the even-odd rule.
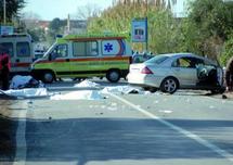
[[[159,54],[131,64],[128,82],[144,89],[173,93],[177,89],[223,92],[223,71],[217,62],[192,53]]]

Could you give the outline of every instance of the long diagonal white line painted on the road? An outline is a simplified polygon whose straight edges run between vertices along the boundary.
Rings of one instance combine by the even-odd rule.
[[[109,96],[112,96],[113,98],[115,98],[115,99],[117,99],[117,100],[124,102],[125,104],[131,106],[132,109],[134,109],[134,110],[141,112],[142,114],[144,114],[144,115],[146,115],[146,116],[148,116],[148,117],[151,117],[151,118],[153,118],[153,119],[155,119],[155,120],[158,120],[159,123],[166,125],[167,127],[169,127],[169,128],[171,128],[171,129],[173,129],[173,130],[176,130],[176,131],[178,131],[178,132],[184,135],[185,137],[195,140],[195,141],[198,142],[199,144],[209,148],[209,149],[212,150],[213,152],[216,152],[216,153],[218,153],[219,155],[225,157],[228,161],[233,162],[233,154],[229,153],[229,152],[225,151],[225,150],[220,149],[219,147],[215,145],[213,143],[211,143],[211,142],[209,142],[209,141],[207,141],[207,140],[200,138],[200,137],[198,137],[197,135],[192,134],[192,132],[190,132],[190,131],[187,131],[187,130],[185,130],[185,129],[183,129],[183,128],[181,128],[181,127],[179,127],[179,126],[176,126],[176,125],[173,125],[173,124],[171,124],[171,123],[169,123],[169,122],[167,122],[167,120],[165,120],[165,119],[163,119],[163,118],[160,118],[160,117],[158,117],[158,116],[152,114],[151,112],[147,112],[147,111],[145,111],[145,110],[139,107],[138,105],[135,105],[135,104],[133,104],[133,103],[127,101],[127,100],[124,99],[124,98],[120,98],[120,97],[118,97],[118,96],[116,96],[116,94],[113,94],[113,93],[109,93]]]

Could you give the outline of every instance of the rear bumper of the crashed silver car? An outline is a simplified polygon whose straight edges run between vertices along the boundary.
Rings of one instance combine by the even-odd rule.
[[[137,74],[128,74],[127,79],[128,79],[128,82],[131,85],[137,85],[141,87],[159,88],[164,77],[137,73]]]

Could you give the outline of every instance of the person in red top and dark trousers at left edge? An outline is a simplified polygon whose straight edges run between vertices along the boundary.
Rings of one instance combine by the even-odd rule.
[[[0,79],[2,81],[2,90],[9,89],[10,67],[10,55],[5,49],[0,46]]]

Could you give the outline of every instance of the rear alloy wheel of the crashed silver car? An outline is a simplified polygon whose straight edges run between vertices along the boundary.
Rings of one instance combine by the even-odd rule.
[[[163,92],[174,93],[178,89],[178,80],[173,77],[165,78],[160,85],[160,90]]]

